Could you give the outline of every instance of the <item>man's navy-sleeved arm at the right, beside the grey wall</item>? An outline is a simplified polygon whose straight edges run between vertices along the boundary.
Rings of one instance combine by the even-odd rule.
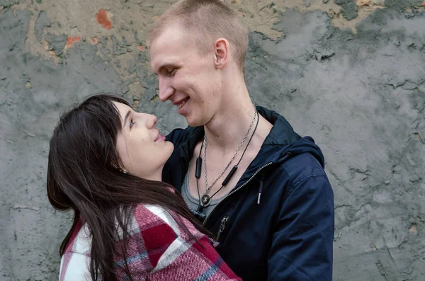
[[[334,194],[324,174],[297,183],[275,227],[268,280],[332,280]]]

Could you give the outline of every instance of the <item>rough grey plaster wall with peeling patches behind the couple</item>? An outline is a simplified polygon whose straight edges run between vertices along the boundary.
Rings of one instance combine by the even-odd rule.
[[[147,30],[163,0],[0,0],[0,280],[57,280],[70,215],[47,202],[61,111],[118,93],[169,131]],[[334,280],[425,280],[425,1],[233,0],[246,80],[322,147],[334,187]]]

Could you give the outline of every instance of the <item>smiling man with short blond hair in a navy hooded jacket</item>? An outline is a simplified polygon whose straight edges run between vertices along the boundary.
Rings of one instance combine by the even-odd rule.
[[[174,154],[163,178],[215,235],[218,253],[243,280],[330,281],[334,198],[322,152],[278,113],[254,107],[237,14],[220,0],[182,0],[149,42],[159,98],[189,125],[167,136]]]

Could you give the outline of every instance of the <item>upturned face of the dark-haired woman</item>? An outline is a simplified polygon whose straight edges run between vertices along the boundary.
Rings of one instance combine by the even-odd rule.
[[[113,103],[118,108],[122,125],[117,137],[121,168],[133,176],[161,180],[162,168],[174,146],[155,128],[157,117],[137,113],[123,103]]]

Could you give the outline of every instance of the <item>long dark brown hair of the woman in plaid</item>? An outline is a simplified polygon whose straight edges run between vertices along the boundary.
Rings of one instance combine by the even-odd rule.
[[[60,255],[72,236],[80,219],[91,231],[90,273],[93,280],[116,280],[113,256],[116,253],[117,227],[128,237],[128,224],[137,204],[159,205],[188,219],[205,233],[203,226],[188,210],[179,193],[171,186],[125,174],[116,139],[121,130],[118,109],[113,102],[128,105],[126,101],[109,94],[92,96],[60,117],[50,140],[47,167],[47,196],[57,210],[74,210],[74,223],[60,246]],[[172,212],[171,212],[172,213]],[[179,216],[176,222],[191,236]],[[126,244],[120,255],[125,256]],[[122,268],[132,280],[128,265]]]

